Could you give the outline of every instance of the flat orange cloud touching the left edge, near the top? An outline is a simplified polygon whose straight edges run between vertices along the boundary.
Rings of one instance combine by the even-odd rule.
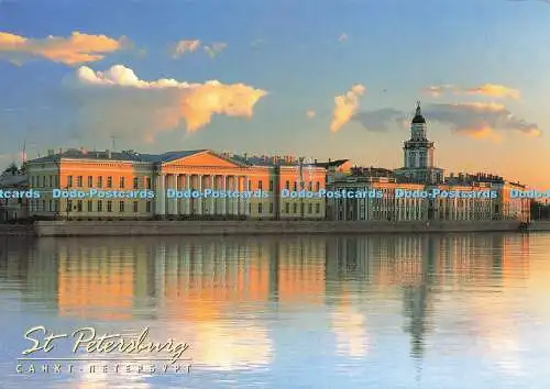
[[[0,59],[23,64],[33,58],[46,58],[66,65],[79,65],[101,60],[108,53],[127,48],[124,37],[114,40],[106,35],[89,35],[74,32],[69,37],[47,36],[28,38],[0,32]]]

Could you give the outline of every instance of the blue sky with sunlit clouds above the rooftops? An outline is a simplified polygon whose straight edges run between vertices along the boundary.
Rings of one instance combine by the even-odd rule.
[[[47,149],[403,166],[549,187],[543,0],[0,0],[0,164]]]

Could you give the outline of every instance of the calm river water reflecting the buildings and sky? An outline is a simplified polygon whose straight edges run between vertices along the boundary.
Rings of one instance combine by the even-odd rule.
[[[549,388],[549,300],[544,233],[0,237],[0,388]],[[18,373],[36,325],[189,349]]]

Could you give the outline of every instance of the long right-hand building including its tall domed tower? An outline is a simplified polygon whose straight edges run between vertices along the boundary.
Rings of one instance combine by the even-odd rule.
[[[524,190],[525,186],[484,174],[451,174],[443,178],[443,169],[435,167],[433,151],[418,105],[410,124],[410,140],[405,142],[405,167],[352,168],[350,175],[330,181],[330,189],[365,194],[329,198],[327,216],[387,221],[529,220],[529,200],[510,197],[513,189]]]

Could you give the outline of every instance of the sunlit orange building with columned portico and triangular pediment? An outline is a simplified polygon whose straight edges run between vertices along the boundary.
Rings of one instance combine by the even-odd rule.
[[[248,157],[209,149],[160,155],[68,149],[28,163],[41,192],[30,215],[70,219],[324,219],[324,199],[282,198],[280,190],[324,188],[326,169],[292,157]],[[139,198],[54,198],[54,189],[139,191]],[[263,192],[251,198],[189,198],[170,191]]]

